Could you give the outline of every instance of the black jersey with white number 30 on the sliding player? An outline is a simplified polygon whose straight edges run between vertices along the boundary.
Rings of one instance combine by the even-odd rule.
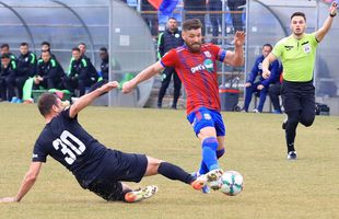
[[[86,187],[103,171],[102,161],[108,149],[87,134],[77,117],[71,118],[67,108],[46,124],[35,142],[32,161],[46,162],[50,155]]]

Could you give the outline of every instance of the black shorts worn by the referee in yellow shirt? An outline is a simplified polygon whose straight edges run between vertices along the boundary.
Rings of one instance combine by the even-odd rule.
[[[283,81],[281,87],[284,111],[315,112],[315,88],[313,81],[290,82]]]

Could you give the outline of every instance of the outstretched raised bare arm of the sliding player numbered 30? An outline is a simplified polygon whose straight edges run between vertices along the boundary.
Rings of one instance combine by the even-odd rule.
[[[81,96],[74,104],[71,105],[70,117],[71,118],[75,117],[75,115],[80,111],[82,111],[84,107],[90,105],[97,96],[117,88],[118,85],[119,85],[119,83],[117,81],[110,81],[108,83],[105,83],[101,88],[92,91],[91,93],[87,93],[87,94]]]

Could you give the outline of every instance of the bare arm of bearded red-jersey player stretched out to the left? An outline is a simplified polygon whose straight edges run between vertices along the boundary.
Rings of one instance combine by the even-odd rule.
[[[162,70],[164,70],[164,67],[160,64],[160,61],[149,66],[138,73],[136,78],[122,84],[122,93],[131,92],[139,83],[152,78]]]

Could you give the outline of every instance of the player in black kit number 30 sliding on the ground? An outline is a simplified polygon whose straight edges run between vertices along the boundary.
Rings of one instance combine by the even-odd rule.
[[[135,203],[153,196],[157,191],[156,186],[151,185],[133,191],[121,182],[140,182],[143,176],[157,173],[189,184],[195,189],[204,186],[209,181],[208,174],[196,178],[172,163],[144,154],[108,149],[81,127],[78,123],[78,113],[102,93],[117,87],[118,82],[108,82],[81,96],[66,108],[57,95],[44,93],[37,105],[46,126],[35,142],[30,170],[16,196],[0,198],[0,203],[22,199],[36,182],[47,155],[52,157],[72,172],[81,187],[90,189],[106,200]]]

